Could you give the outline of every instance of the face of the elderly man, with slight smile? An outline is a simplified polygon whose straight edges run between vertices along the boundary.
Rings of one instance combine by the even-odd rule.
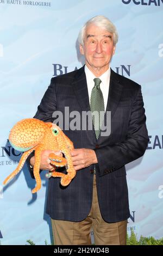
[[[92,24],[86,28],[84,45],[80,45],[80,53],[84,54],[88,68],[107,70],[114,52],[112,33]]]

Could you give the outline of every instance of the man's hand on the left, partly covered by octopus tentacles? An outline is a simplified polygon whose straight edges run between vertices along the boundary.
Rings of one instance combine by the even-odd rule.
[[[60,151],[54,151],[54,150],[43,150],[41,153],[41,163],[40,163],[40,169],[41,170],[54,170],[54,166],[51,164],[51,160],[49,160],[48,156],[50,153],[54,153],[55,155],[62,156]],[[31,157],[30,159],[30,165],[34,167],[35,163],[35,156]]]

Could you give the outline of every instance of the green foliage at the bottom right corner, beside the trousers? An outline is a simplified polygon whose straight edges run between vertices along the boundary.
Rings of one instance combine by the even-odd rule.
[[[134,230],[131,230],[130,236],[127,234],[127,245],[163,245],[163,237],[154,239],[153,236],[145,237],[141,235],[140,239],[137,239]]]

